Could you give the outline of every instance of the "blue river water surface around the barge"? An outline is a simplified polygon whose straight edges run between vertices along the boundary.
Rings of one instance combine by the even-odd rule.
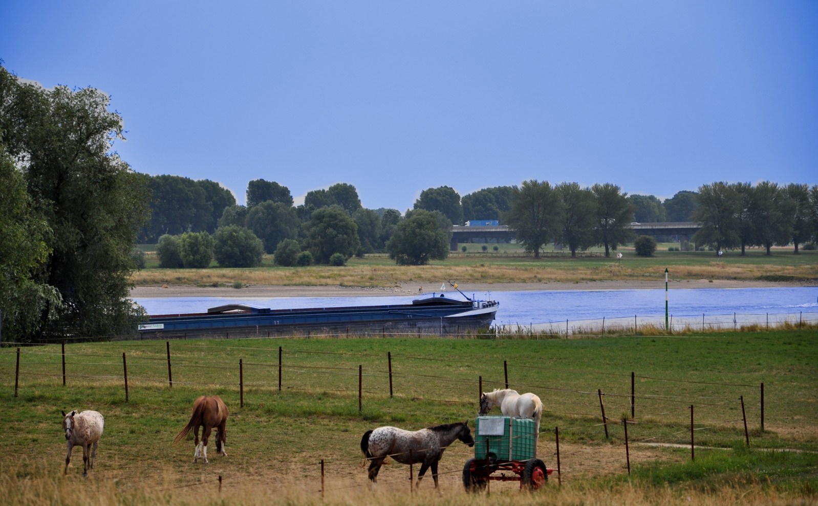
[[[671,285],[672,286],[672,285]],[[460,297],[457,292],[447,292]],[[472,294],[468,294],[472,295]],[[498,325],[542,328],[562,322],[591,322],[605,317],[613,322],[639,324],[663,321],[664,290],[597,290],[597,291],[494,291],[474,294],[482,300],[497,300]],[[678,288],[669,291],[669,313],[676,322],[699,322],[705,315],[708,326],[736,321],[779,322],[789,315],[798,320],[818,318],[818,287],[780,288]],[[415,296],[391,297],[279,297],[272,299],[220,297],[161,297],[138,298],[149,314],[204,313],[207,308],[222,304],[250,304],[263,308],[329,308],[380,304],[411,304]],[[793,316],[794,315],[794,316]]]

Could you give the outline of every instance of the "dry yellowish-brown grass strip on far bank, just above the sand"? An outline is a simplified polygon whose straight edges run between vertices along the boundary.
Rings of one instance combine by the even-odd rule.
[[[483,261],[461,264],[448,261],[420,266],[398,266],[383,261],[353,260],[345,267],[317,265],[303,268],[262,267],[258,269],[145,269],[134,273],[137,286],[161,284],[210,285],[242,282],[251,285],[297,286],[398,286],[402,282],[580,282],[597,280],[663,279],[664,264],[627,265],[608,261],[518,262]],[[676,279],[755,279],[761,276],[818,277],[818,264],[707,264],[676,265]]]

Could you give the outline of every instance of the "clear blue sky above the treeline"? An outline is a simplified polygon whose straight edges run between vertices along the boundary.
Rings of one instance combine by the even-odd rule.
[[[538,179],[818,183],[818,2],[0,2],[0,58],[112,96],[137,171],[410,207]]]

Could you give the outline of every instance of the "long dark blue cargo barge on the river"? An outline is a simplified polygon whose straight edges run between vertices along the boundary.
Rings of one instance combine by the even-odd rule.
[[[465,297],[465,295],[464,295]],[[348,308],[271,309],[246,304],[207,313],[151,315],[142,339],[285,337],[309,335],[458,335],[492,324],[494,300],[456,300],[433,294],[411,304]]]

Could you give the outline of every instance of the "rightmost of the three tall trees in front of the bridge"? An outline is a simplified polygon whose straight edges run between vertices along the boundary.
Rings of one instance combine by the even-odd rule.
[[[627,202],[627,193],[622,193],[616,184],[594,184],[591,186],[596,209],[594,212],[594,231],[596,244],[605,246],[605,258],[610,251],[616,251],[636,234],[631,229],[634,208]]]

